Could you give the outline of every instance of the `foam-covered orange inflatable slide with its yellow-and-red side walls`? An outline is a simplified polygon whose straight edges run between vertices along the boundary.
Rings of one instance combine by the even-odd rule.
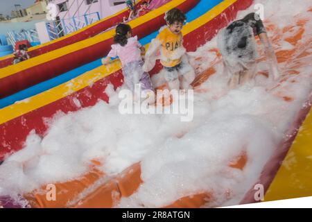
[[[193,121],[120,114],[119,60],[9,105],[0,110],[2,205],[220,207],[258,201],[257,185],[265,200],[311,195],[311,2],[225,0],[202,12],[207,3],[183,28]],[[270,80],[259,47],[254,83],[229,90],[216,35],[259,3],[280,78]],[[150,73],[155,84],[161,69]]]

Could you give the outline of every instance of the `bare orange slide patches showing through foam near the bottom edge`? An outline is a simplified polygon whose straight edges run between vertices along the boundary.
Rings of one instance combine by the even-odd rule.
[[[247,161],[246,153],[242,153],[232,162],[229,162],[229,167],[243,170]],[[31,194],[25,194],[24,197],[31,207],[35,208],[107,208],[118,205],[122,197],[129,197],[134,194],[142,183],[141,165],[139,163],[133,164],[117,176],[110,177],[98,171],[93,162],[92,170],[82,178],[55,184],[56,195],[54,197],[50,194],[51,189],[46,189],[48,187],[42,187],[42,189],[33,191]],[[213,196],[213,193],[184,196],[171,205],[163,207],[201,207],[209,204]]]

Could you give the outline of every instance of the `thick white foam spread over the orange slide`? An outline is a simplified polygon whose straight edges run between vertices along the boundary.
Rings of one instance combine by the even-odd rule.
[[[293,17],[311,6],[308,0],[300,4],[292,0],[287,4],[281,0],[261,2],[267,19],[281,28],[295,23]],[[240,12],[238,18],[248,12],[252,9]],[[98,101],[78,112],[58,113],[46,120],[50,127],[44,137],[35,132],[28,136],[24,149],[0,166],[0,195],[16,196],[46,183],[77,178],[89,171],[95,159],[103,163],[99,169],[108,176],[141,162],[144,183],[135,194],[123,198],[119,207],[162,207],[205,191],[213,191],[215,197],[207,207],[239,203],[308,98],[311,67],[301,67],[300,74],[272,90],[268,90],[268,80],[258,76],[255,83],[229,91],[222,62],[215,51],[209,51],[214,48],[216,38],[189,53],[198,72],[211,65],[216,69],[200,87],[207,92],[195,94],[193,121],[181,122],[180,116],[173,114],[121,115],[119,89],[114,92],[109,85],[105,89],[109,105]],[[291,46],[281,42],[280,49]],[[280,68],[285,71],[287,65]],[[293,101],[277,95],[291,96]],[[248,155],[243,171],[228,167],[243,151]]]

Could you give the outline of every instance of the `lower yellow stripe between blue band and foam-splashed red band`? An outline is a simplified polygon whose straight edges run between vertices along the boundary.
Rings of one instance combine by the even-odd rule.
[[[210,21],[207,19],[213,19],[210,16],[210,14],[216,17],[221,12],[223,12],[223,10],[231,6],[232,3],[236,1],[237,0],[223,1],[221,6],[218,5],[215,8],[211,9],[209,12],[205,13],[205,15],[202,15],[202,17],[204,17],[204,20],[202,19],[202,17],[199,17],[198,19],[184,26],[183,34],[187,35],[191,31],[202,26],[206,22]],[[205,23],[203,23],[204,21]],[[149,44],[146,45],[146,49],[148,48],[148,46]],[[107,71],[106,69],[109,69],[109,71]],[[10,121],[11,119],[15,119],[23,114],[26,114],[27,112],[36,110],[37,108],[41,108],[44,105],[48,105],[49,103],[53,103],[54,101],[57,101],[58,99],[62,99],[64,96],[67,96],[68,94],[72,94],[79,89],[83,89],[84,87],[87,87],[90,81],[92,83],[95,83],[97,80],[100,80],[101,78],[104,78],[105,76],[109,76],[110,74],[114,73],[114,71],[117,71],[119,69],[121,69],[121,63],[119,60],[115,60],[114,62],[112,62],[112,65],[109,65],[109,66],[103,65],[101,67],[98,67],[97,69],[88,71],[87,73],[77,78],[73,78],[71,81],[67,83],[58,85],[57,87],[49,89],[46,92],[42,92],[40,94],[32,96],[31,98],[26,100],[27,103],[15,103],[6,108],[3,108],[0,110],[0,124]],[[94,78],[94,76],[98,76],[98,78]],[[69,85],[73,85],[76,87],[69,88],[68,87]]]

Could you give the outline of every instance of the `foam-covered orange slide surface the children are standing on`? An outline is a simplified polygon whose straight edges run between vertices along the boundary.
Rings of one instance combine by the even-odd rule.
[[[59,207],[216,207],[248,198],[311,94],[311,3],[254,3],[272,9],[265,25],[279,60],[277,82],[268,80],[259,50],[255,83],[229,91],[214,38],[189,53],[198,74],[192,122],[174,115],[122,116],[109,85],[109,105],[60,113],[44,135],[31,133],[24,149],[1,165],[2,190],[23,193],[33,207],[57,207],[33,191],[49,182],[58,182]],[[297,10],[289,15],[292,4]],[[12,177],[4,180],[8,173]]]

